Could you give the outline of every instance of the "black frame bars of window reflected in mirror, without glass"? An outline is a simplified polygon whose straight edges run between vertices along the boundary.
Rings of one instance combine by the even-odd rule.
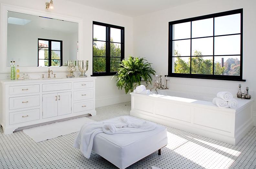
[[[39,60],[47,60],[47,59],[39,59],[39,41],[48,41],[48,66],[46,67],[50,67],[51,66],[51,51],[56,51],[56,50],[52,50],[51,49],[51,42],[60,42],[60,59],[53,59],[53,60],[60,60],[60,66],[63,65],[63,42],[61,40],[53,40],[53,39],[42,39],[42,38],[38,38],[37,39],[37,67],[39,67]],[[42,49],[41,49],[42,50]],[[60,67],[59,66],[59,67]]]

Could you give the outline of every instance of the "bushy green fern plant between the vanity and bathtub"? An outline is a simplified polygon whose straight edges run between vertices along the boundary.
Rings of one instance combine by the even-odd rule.
[[[120,68],[116,73],[118,89],[124,89],[125,94],[127,94],[129,91],[133,92],[134,87],[140,85],[142,79],[146,83],[151,83],[151,75],[155,75],[155,70],[151,67],[151,64],[145,58],[134,58],[132,56],[121,61]]]

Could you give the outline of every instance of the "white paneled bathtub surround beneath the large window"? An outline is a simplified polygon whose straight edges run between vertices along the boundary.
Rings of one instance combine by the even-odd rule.
[[[209,97],[171,90],[132,95],[130,115],[235,145],[253,126],[251,100],[219,108]],[[204,101],[208,100],[208,101]]]

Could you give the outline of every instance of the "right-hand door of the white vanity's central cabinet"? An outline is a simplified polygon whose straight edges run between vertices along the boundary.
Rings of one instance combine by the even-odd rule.
[[[58,93],[58,116],[71,113],[71,92]]]

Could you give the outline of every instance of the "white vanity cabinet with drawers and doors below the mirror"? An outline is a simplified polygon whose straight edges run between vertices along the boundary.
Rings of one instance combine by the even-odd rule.
[[[95,77],[1,80],[0,124],[5,134],[86,114],[96,115]]]

